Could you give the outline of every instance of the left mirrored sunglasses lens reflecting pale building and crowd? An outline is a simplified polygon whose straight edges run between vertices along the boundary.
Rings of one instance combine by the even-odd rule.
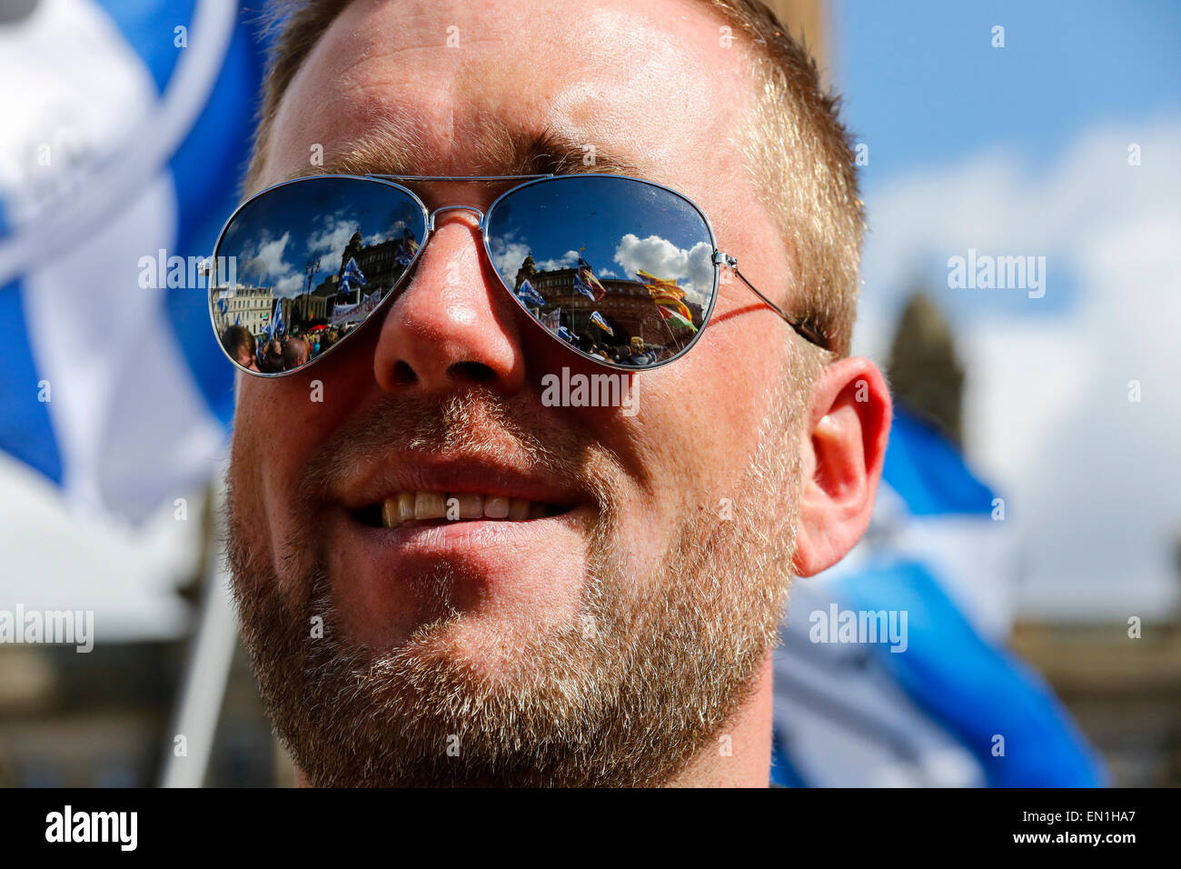
[[[309,177],[247,202],[214,253],[209,305],[227,355],[294,371],[345,339],[402,280],[426,219],[404,189]]]

